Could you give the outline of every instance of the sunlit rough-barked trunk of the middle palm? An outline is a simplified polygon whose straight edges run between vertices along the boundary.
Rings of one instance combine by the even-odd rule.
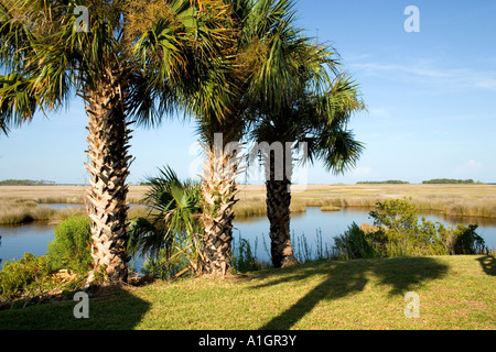
[[[230,268],[234,206],[239,158],[237,152],[215,153],[207,147],[202,193],[204,200],[204,272],[224,277]]]

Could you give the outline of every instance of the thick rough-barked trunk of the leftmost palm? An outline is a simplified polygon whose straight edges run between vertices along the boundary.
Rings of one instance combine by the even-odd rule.
[[[88,284],[101,274],[100,279],[108,283],[126,282],[128,276],[126,178],[131,131],[126,123],[119,81],[119,75],[108,73],[84,97],[89,124],[86,168],[90,174],[87,198],[94,258]]]

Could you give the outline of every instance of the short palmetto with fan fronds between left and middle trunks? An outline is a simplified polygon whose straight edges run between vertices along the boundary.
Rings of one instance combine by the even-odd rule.
[[[188,268],[202,274],[204,266],[201,185],[182,182],[170,167],[148,179],[150,190],[143,204],[149,208],[144,218],[130,223],[130,253],[165,260],[183,257]]]

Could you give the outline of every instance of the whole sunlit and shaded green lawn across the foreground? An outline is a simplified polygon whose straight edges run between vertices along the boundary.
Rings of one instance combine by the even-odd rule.
[[[341,330],[495,329],[496,260],[430,256],[305,264],[225,280],[127,287],[89,300],[0,311],[4,329]],[[407,319],[403,297],[420,296]]]

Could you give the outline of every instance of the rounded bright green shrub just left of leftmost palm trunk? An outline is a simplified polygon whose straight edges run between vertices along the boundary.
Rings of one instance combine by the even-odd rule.
[[[69,270],[84,275],[93,258],[90,255],[90,226],[87,217],[71,217],[55,228],[55,239],[48,243],[52,270]]]

